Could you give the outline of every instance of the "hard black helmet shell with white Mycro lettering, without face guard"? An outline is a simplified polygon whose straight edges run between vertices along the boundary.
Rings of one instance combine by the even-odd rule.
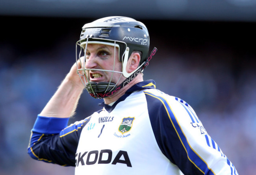
[[[106,42],[116,41],[120,48],[119,60],[124,59],[124,51],[129,47],[129,55],[133,51],[141,51],[141,63],[145,62],[148,56],[149,49],[149,35],[147,27],[129,17],[124,16],[109,16],[100,18],[94,22],[85,24],[82,27],[80,35],[80,43],[86,40],[106,40]]]

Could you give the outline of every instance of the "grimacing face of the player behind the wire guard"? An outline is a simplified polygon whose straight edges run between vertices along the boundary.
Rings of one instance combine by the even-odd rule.
[[[85,55],[85,69],[100,69],[122,72],[122,64],[118,59],[119,54],[117,47],[115,49],[113,46],[104,44],[88,44]],[[124,80],[121,73],[100,70],[86,71],[90,82],[109,82],[109,80],[111,80],[113,83],[120,83],[122,80]],[[119,81],[120,77],[121,80]]]

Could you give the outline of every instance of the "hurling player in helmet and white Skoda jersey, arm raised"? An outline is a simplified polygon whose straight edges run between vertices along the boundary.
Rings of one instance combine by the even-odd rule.
[[[76,64],[32,129],[30,156],[75,166],[76,175],[237,175],[191,106],[143,81],[156,53],[148,48],[146,26],[132,18],[85,24]],[[84,88],[103,109],[67,126]]]

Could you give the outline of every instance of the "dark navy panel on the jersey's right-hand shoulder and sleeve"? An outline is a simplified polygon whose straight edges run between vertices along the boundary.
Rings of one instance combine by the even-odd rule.
[[[186,149],[180,141],[176,129],[173,126],[173,111],[168,102],[152,93],[144,92],[147,100],[148,114],[154,132],[156,142],[162,153],[176,164],[183,173],[191,171],[195,174],[202,174],[191,161],[188,160]],[[189,169],[187,167],[190,167]]]

